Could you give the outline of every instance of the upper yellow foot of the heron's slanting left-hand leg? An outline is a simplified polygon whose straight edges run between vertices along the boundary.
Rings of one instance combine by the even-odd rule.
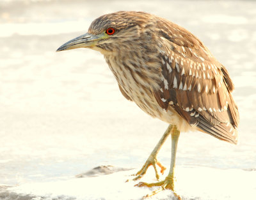
[[[139,180],[140,178],[142,178],[145,173],[147,172],[147,169],[149,166],[153,166],[155,169],[155,173],[156,173],[156,179],[159,180],[159,174],[157,172],[157,168],[156,165],[159,166],[159,168],[161,168],[161,174],[163,175],[164,170],[166,168],[164,168],[164,166],[157,161],[156,156],[150,155],[147,159],[147,161],[145,162],[145,164],[143,165],[143,167],[140,169],[140,171],[138,171],[134,176],[136,176],[135,178],[133,178],[132,180]]]

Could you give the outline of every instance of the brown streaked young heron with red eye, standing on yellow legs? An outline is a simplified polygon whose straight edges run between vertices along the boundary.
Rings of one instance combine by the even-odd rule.
[[[156,157],[171,134],[168,176],[162,182],[141,182],[138,186],[173,190],[180,131],[202,131],[237,143],[239,113],[231,94],[232,80],[227,69],[191,32],[155,15],[119,11],[97,18],[88,33],[57,51],[81,47],[104,55],[125,98],[148,115],[170,124],[134,180],[145,175],[150,165],[158,180],[156,165],[161,173],[165,168]]]

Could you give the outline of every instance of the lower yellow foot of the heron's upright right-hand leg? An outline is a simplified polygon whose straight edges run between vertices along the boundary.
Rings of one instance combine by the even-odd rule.
[[[147,195],[143,196],[143,199],[147,199],[148,197],[154,196],[158,192],[169,189],[169,190],[172,190],[174,196],[177,197],[178,200],[181,200],[181,197],[174,190],[174,177],[168,177],[167,176],[164,181],[156,182],[156,183],[140,182],[140,183],[138,183],[134,186],[136,186],[136,187],[155,187],[155,186],[159,186],[159,188],[154,190],[153,192],[151,192],[151,194],[147,194]]]

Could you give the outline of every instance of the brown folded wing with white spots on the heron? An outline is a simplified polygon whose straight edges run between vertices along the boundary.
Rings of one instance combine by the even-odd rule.
[[[239,113],[227,69],[193,34],[175,29],[175,36],[172,29],[159,32],[163,39],[159,55],[162,82],[159,90],[153,90],[157,103],[165,110],[172,106],[201,131],[237,143]]]

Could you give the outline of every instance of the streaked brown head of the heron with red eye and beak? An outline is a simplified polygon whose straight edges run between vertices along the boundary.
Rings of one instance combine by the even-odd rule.
[[[57,52],[73,48],[92,48],[102,54],[132,50],[134,44],[143,45],[140,36],[143,31],[145,32],[146,26],[148,30],[148,26],[150,26],[148,20],[152,17],[154,15],[136,11],[118,11],[102,15],[92,22],[86,34],[71,39],[60,46]],[[154,22],[154,20],[151,21]],[[151,36],[149,32],[146,35]],[[147,38],[144,37],[144,39]]]

